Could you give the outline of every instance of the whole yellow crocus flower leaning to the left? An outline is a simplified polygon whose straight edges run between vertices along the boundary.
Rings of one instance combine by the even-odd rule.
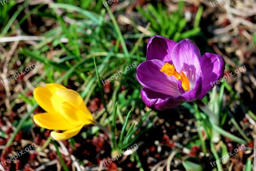
[[[46,113],[34,115],[37,125],[47,129],[66,130],[63,133],[52,131],[55,140],[66,140],[78,134],[84,125],[92,124],[92,113],[85,106],[82,97],[74,90],[60,84],[46,84],[37,87],[34,98]]]

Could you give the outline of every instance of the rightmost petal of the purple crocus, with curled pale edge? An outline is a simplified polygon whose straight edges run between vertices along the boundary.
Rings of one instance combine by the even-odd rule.
[[[201,70],[204,79],[202,82],[202,93],[198,99],[204,98],[207,92],[214,87],[213,83],[223,77],[225,64],[224,59],[220,55],[213,53],[205,53],[203,55],[201,61]]]

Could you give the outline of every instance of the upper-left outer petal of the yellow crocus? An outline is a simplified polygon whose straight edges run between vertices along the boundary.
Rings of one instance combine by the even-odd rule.
[[[50,89],[53,91],[54,87]],[[66,100],[51,91],[46,87],[37,87],[34,90],[34,98],[46,112],[60,114],[60,104]]]

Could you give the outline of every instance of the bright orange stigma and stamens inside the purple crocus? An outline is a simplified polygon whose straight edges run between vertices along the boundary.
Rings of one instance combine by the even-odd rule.
[[[168,62],[166,62],[164,64],[164,66],[160,69],[160,72],[166,74],[167,76],[172,76],[173,75],[177,80],[181,81],[181,86],[184,90],[186,90],[186,91],[189,90],[188,77],[182,71],[180,71],[180,73],[175,71],[175,66],[174,65],[169,64]]]

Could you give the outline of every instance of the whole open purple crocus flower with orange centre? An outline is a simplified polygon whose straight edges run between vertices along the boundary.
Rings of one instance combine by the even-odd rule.
[[[142,101],[157,110],[202,99],[225,69],[220,55],[205,53],[201,57],[189,39],[177,43],[155,35],[148,41],[146,58],[137,67],[137,80],[144,87],[140,91]]]

